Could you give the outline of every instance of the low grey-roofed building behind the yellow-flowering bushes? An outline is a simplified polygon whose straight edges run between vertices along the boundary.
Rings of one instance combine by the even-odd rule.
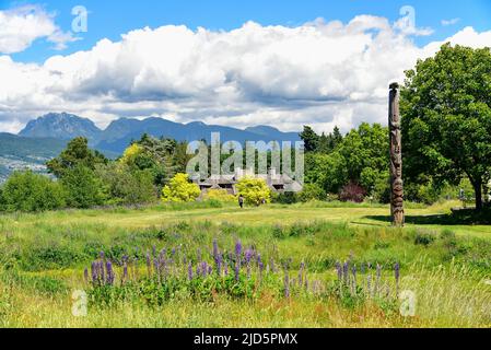
[[[268,174],[255,174],[254,170],[236,168],[232,175],[212,175],[207,179],[195,180],[201,190],[201,196],[210,189],[225,189],[230,195],[237,195],[236,184],[244,177],[262,178],[268,187],[277,194],[299,192],[302,186],[285,174],[277,174],[271,168]]]

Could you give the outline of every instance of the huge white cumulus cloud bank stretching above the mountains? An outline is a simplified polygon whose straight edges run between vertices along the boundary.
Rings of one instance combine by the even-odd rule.
[[[145,27],[42,65],[0,56],[0,128],[66,110],[102,127],[121,116],[161,116],[346,131],[386,122],[388,84],[443,43],[491,46],[491,32],[471,27],[425,47],[411,35],[385,18],[360,15],[295,27]]]

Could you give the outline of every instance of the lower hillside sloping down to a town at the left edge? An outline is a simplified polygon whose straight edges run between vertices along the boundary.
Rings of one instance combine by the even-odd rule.
[[[66,145],[66,140],[0,133],[0,183],[16,170],[46,173],[46,161],[57,156]]]

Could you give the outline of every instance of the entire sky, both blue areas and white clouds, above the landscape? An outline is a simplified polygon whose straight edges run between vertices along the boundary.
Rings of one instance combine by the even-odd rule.
[[[0,131],[51,112],[102,128],[386,124],[389,82],[445,42],[491,47],[490,19],[490,0],[0,0]]]

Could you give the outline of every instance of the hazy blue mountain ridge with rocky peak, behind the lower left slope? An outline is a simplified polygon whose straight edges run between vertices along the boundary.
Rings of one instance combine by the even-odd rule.
[[[30,121],[20,132],[25,137],[51,137],[69,140],[84,136],[91,147],[105,152],[121,154],[131,140],[138,140],[143,133],[153,137],[173,138],[177,141],[204,139],[210,142],[212,132],[220,132],[221,141],[300,141],[296,132],[282,132],[268,126],[257,126],[241,130],[232,127],[206,125],[200,121],[180,124],[163,118],[143,120],[120,118],[114,120],[105,130],[98,129],[90,119],[70,114],[50,113]]]

